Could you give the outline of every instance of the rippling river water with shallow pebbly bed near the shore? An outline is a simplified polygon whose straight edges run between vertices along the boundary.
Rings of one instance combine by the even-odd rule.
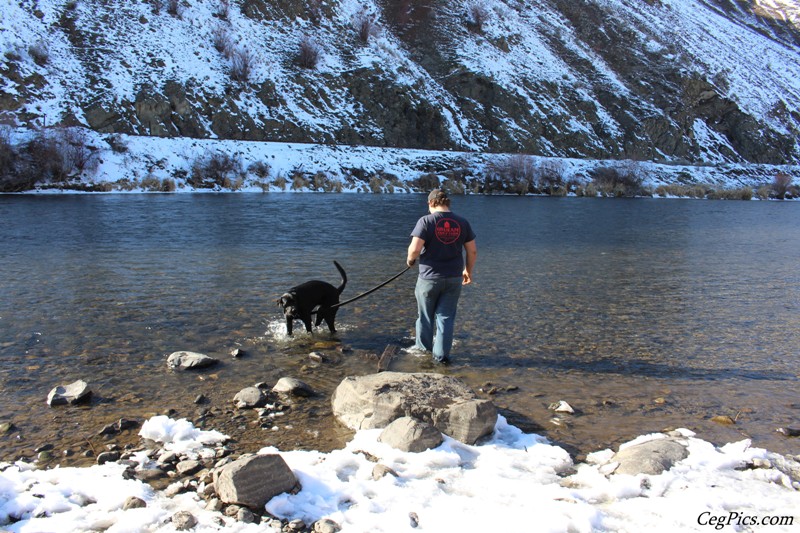
[[[453,202],[479,259],[454,363],[436,371],[577,456],[674,427],[800,452],[776,432],[800,425],[800,204]],[[106,424],[169,409],[241,451],[341,447],[351,433],[332,420],[330,394],[374,372],[387,345],[413,342],[415,276],[343,307],[333,337],[298,324],[287,338],[275,300],[307,279],[338,284],[334,259],[349,276],[343,298],[388,279],[422,214],[421,195],[0,196],[0,423],[13,424],[0,460],[52,444],[54,461],[88,462],[85,452],[138,441],[135,430],[99,436]],[[177,350],[222,363],[173,372]],[[391,369],[432,370],[405,352]],[[268,424],[233,408],[240,389],[282,376],[318,395]],[[89,404],[46,405],[76,379]],[[576,413],[549,409],[561,400]],[[726,415],[735,424],[711,420]]]

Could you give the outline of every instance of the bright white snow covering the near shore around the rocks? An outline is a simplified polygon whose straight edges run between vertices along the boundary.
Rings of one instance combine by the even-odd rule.
[[[330,453],[261,450],[280,454],[302,485],[296,494],[270,500],[264,514],[299,519],[307,528],[327,518],[344,532],[771,532],[800,526],[800,465],[747,440],[715,447],[679,430],[685,459],[658,475],[624,475],[612,473],[611,450],[573,464],[564,449],[502,417],[491,439],[476,446],[446,437],[436,449],[403,453],[378,442],[379,433],[359,431]],[[225,438],[164,416],[145,422],[140,435],[196,457],[213,454],[210,446]],[[623,446],[662,438],[645,435]],[[374,479],[376,460],[397,477]],[[140,469],[149,459],[139,452],[133,461]],[[181,511],[196,518],[194,531],[271,531],[278,523],[239,522],[207,510],[197,491],[168,496],[169,489],[125,479],[125,470],[119,463],[48,470],[4,464],[0,528],[174,531],[172,517]],[[130,497],[146,506],[123,510]]]

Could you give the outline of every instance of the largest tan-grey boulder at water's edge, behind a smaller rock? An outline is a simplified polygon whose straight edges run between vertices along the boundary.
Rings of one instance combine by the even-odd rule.
[[[474,444],[490,435],[497,408],[459,379],[430,373],[381,372],[345,378],[333,393],[333,414],[350,429],[385,428],[409,416]]]

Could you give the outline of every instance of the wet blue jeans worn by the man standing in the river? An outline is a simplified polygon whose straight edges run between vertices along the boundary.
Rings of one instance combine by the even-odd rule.
[[[433,353],[438,362],[447,361],[453,346],[461,276],[457,278],[417,278],[417,348]],[[434,339],[434,333],[435,339]]]

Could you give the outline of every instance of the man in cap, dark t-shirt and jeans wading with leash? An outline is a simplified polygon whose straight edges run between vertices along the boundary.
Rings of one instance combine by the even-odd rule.
[[[433,353],[437,363],[447,363],[453,346],[461,286],[472,283],[478,257],[475,232],[467,219],[450,211],[450,198],[439,189],[428,195],[429,215],[411,232],[406,264],[419,258],[417,297],[417,348]],[[467,252],[466,264],[462,248]],[[435,336],[434,336],[435,333]]]

